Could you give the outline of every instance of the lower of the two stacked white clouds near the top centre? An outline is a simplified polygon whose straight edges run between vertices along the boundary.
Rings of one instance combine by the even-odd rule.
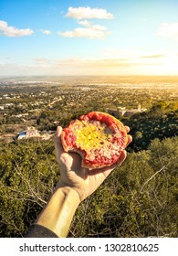
[[[107,31],[107,27],[92,25],[88,20],[80,21],[79,24],[85,27],[77,27],[71,31],[58,32],[58,35],[62,37],[88,37],[93,39],[104,38],[110,34]]]

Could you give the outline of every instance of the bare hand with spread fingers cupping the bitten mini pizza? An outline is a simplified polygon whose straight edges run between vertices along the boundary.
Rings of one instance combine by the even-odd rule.
[[[127,133],[130,128],[125,126]],[[71,187],[79,194],[80,201],[89,197],[105,180],[110,172],[118,165],[120,165],[126,158],[126,151],[124,150],[117,163],[99,168],[89,170],[81,166],[81,157],[77,153],[66,153],[60,141],[60,134],[62,127],[58,126],[57,135],[55,138],[55,146],[57,150],[57,162],[60,168],[60,180],[57,187]],[[128,135],[128,144],[131,143],[131,135]]]

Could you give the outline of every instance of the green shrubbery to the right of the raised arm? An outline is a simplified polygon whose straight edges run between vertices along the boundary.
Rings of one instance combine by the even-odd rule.
[[[177,157],[178,137],[128,155],[79,206],[70,236],[177,237]]]

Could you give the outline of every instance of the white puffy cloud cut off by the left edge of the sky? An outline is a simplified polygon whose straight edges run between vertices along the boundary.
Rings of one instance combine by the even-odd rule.
[[[5,35],[5,37],[24,37],[31,36],[34,31],[32,29],[18,29],[16,27],[10,27],[4,20],[0,20],[0,32]]]

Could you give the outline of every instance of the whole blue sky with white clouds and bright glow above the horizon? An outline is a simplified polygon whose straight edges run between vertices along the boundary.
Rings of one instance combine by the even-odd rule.
[[[178,75],[178,0],[1,0],[0,76]]]

